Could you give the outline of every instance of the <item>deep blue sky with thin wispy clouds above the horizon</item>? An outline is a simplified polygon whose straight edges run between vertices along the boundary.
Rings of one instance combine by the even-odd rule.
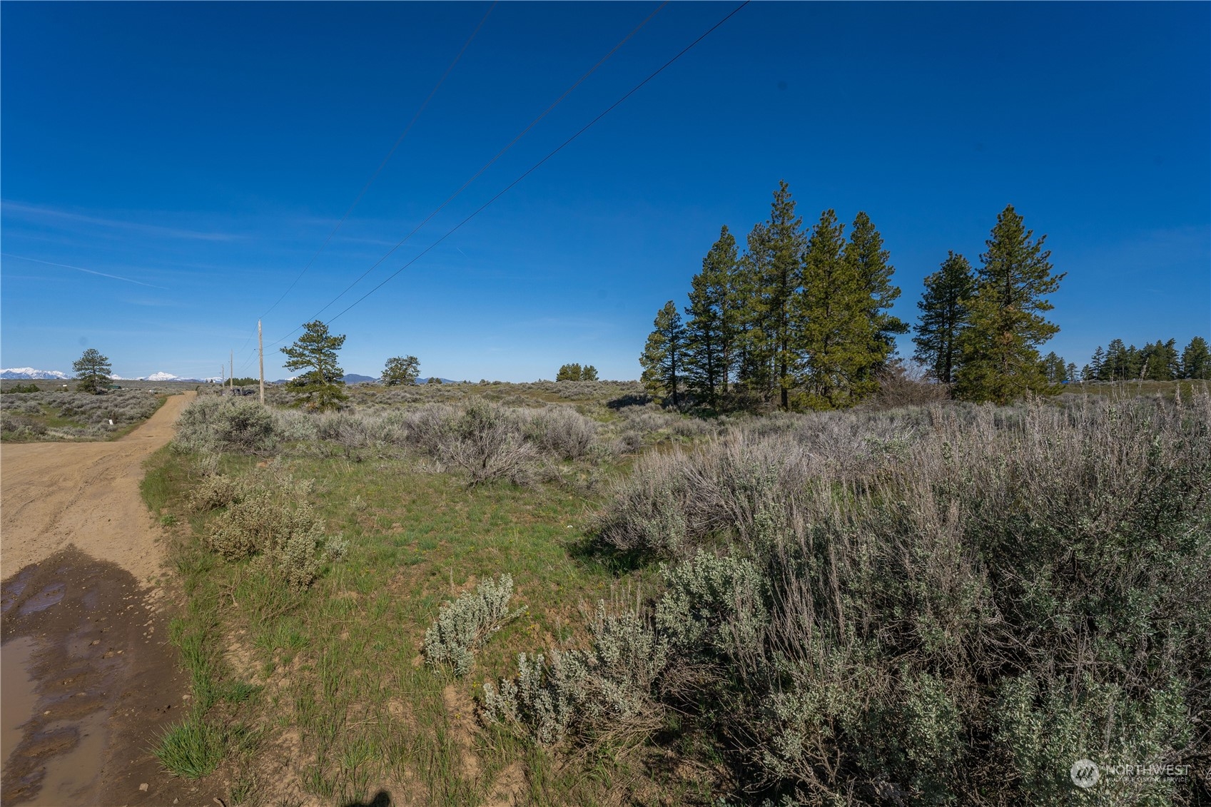
[[[275,340],[658,4],[497,5],[317,256],[488,7],[4,4],[0,365],[69,371],[93,347],[122,376],[201,377],[234,349],[256,374],[264,315],[282,377]],[[323,317],[733,7],[660,8]],[[1068,273],[1044,350],[1084,364],[1115,337],[1211,336],[1209,32],[1205,2],[751,4],[333,321],[343,366],[636,378],[656,310],[684,304],[719,227],[742,239],[784,178],[809,223],[871,216],[903,319],[947,250],[975,263],[1012,204]]]

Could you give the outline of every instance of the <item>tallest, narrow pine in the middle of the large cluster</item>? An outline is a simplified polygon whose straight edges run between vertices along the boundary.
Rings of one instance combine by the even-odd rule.
[[[748,297],[754,322],[748,331],[750,356],[767,393],[776,393],[779,405],[790,408],[798,365],[791,301],[802,285],[803,219],[794,214],[794,200],[786,182],[774,191],[769,221],[748,234]],[[756,374],[756,373],[754,373]]]

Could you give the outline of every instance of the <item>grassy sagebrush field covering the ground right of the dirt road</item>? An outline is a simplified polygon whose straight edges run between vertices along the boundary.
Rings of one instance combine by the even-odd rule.
[[[194,676],[161,759],[251,805],[1205,801],[1206,385],[891,382],[201,396],[144,485]]]

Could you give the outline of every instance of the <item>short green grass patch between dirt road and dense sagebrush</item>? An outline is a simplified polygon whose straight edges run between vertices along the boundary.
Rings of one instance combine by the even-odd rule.
[[[474,716],[483,681],[511,675],[518,652],[572,636],[580,607],[610,597],[610,570],[572,551],[597,498],[555,485],[467,488],[401,458],[286,458],[297,479],[315,480],[311,500],[328,533],[349,542],[345,560],[297,593],[200,548],[208,519],[182,508],[196,482],[189,462],[157,452],[142,491],[149,508],[179,525],[177,568],[188,605],[172,637],[193,675],[195,708],[208,719],[297,731],[303,749],[293,773],[303,790],[334,803],[408,783],[419,788],[418,803],[478,805],[515,763],[524,767],[533,803],[598,803],[609,791],[609,777],[586,779],[545,751],[486,733]],[[224,457],[222,470],[254,473],[253,464]],[[480,651],[465,680],[423,664],[424,631],[440,606],[500,572],[512,574],[513,606],[528,613]],[[218,649],[225,637],[239,637],[251,656],[251,681]],[[247,801],[254,754],[233,756],[228,778],[241,789],[233,785],[233,801]]]

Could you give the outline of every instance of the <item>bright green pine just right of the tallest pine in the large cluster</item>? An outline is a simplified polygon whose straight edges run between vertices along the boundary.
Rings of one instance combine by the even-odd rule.
[[[869,368],[885,356],[869,316],[869,287],[844,258],[844,227],[836,211],[820,214],[804,251],[803,292],[794,298],[813,408],[851,406],[873,393]]]

